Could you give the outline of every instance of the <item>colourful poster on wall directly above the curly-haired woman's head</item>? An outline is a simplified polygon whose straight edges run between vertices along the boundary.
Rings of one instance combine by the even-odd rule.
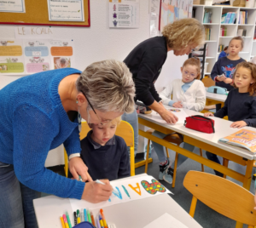
[[[188,18],[189,4],[191,3],[190,14],[192,15],[193,0],[161,0],[160,31],[163,30],[164,26],[175,20]]]

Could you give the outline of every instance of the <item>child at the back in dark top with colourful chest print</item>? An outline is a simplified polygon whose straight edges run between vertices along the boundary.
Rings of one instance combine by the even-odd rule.
[[[240,58],[239,52],[243,48],[243,39],[241,37],[233,37],[230,40],[228,52],[229,55],[220,58],[212,68],[211,77],[212,80],[216,82],[216,86],[227,88],[230,91],[234,88],[232,83],[232,75],[235,71],[236,65],[245,61]],[[206,105],[205,109],[215,109],[218,111],[220,109],[220,104],[218,105]]]

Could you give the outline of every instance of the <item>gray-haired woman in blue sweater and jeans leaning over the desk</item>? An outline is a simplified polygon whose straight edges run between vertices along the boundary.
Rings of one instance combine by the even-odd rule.
[[[115,60],[96,62],[84,72],[44,71],[1,89],[0,227],[37,227],[32,199],[38,191],[89,202],[108,200],[111,185],[91,181],[79,157],[80,117],[108,123],[134,110],[134,94],[129,69]],[[76,180],[44,167],[49,150],[62,143]]]

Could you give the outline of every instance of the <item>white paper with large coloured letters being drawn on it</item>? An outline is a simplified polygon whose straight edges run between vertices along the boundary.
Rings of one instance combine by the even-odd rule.
[[[91,203],[91,202],[87,202],[84,200],[77,200],[77,199],[69,199],[69,201],[71,203],[71,207],[73,211],[76,211],[78,208],[88,208],[90,210],[93,210],[96,208],[105,208],[105,207],[112,206],[114,204],[118,204],[122,202],[130,202],[133,200],[139,200],[146,197],[154,197],[160,194],[166,194],[166,193],[172,194],[172,192],[166,189],[166,187],[164,187],[163,185],[160,186],[160,187],[164,187],[164,189],[162,190],[163,192],[155,191],[155,194],[149,194],[148,191],[146,191],[143,188],[143,185],[142,185],[143,180],[148,181],[149,185],[152,184],[153,181],[158,182],[158,180],[155,180],[154,177],[152,176],[137,177],[137,178],[132,178],[130,180],[110,181],[110,184],[113,186],[113,188],[115,190],[119,190],[119,194],[120,194],[120,197],[116,197],[115,195],[112,194],[112,196],[110,197],[110,202],[105,201],[105,202],[99,202],[99,203]],[[131,186],[129,185],[136,188],[136,191],[132,190]],[[128,191],[129,197],[125,193],[124,187],[126,191]],[[140,192],[140,195],[137,192]]]

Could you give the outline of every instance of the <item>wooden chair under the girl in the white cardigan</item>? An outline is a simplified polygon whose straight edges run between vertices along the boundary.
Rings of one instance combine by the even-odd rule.
[[[153,134],[154,129],[148,129],[147,131],[150,134]],[[183,142],[183,138],[180,134],[173,133],[167,135],[164,140],[167,142],[180,145]],[[149,154],[149,145],[150,145],[150,140],[148,140],[148,146],[147,146],[147,156],[146,156],[146,163],[145,163],[145,173],[147,174],[148,172],[148,154]],[[200,149],[200,155],[202,157],[202,151]],[[169,158],[169,152],[168,148],[166,147],[166,156]],[[177,159],[178,159],[178,153],[176,152],[175,154],[175,161],[174,161],[174,168],[173,168],[173,178],[172,178],[172,188],[175,187],[175,182],[176,182],[176,174],[177,174]],[[201,171],[204,172],[204,165],[201,164]]]

